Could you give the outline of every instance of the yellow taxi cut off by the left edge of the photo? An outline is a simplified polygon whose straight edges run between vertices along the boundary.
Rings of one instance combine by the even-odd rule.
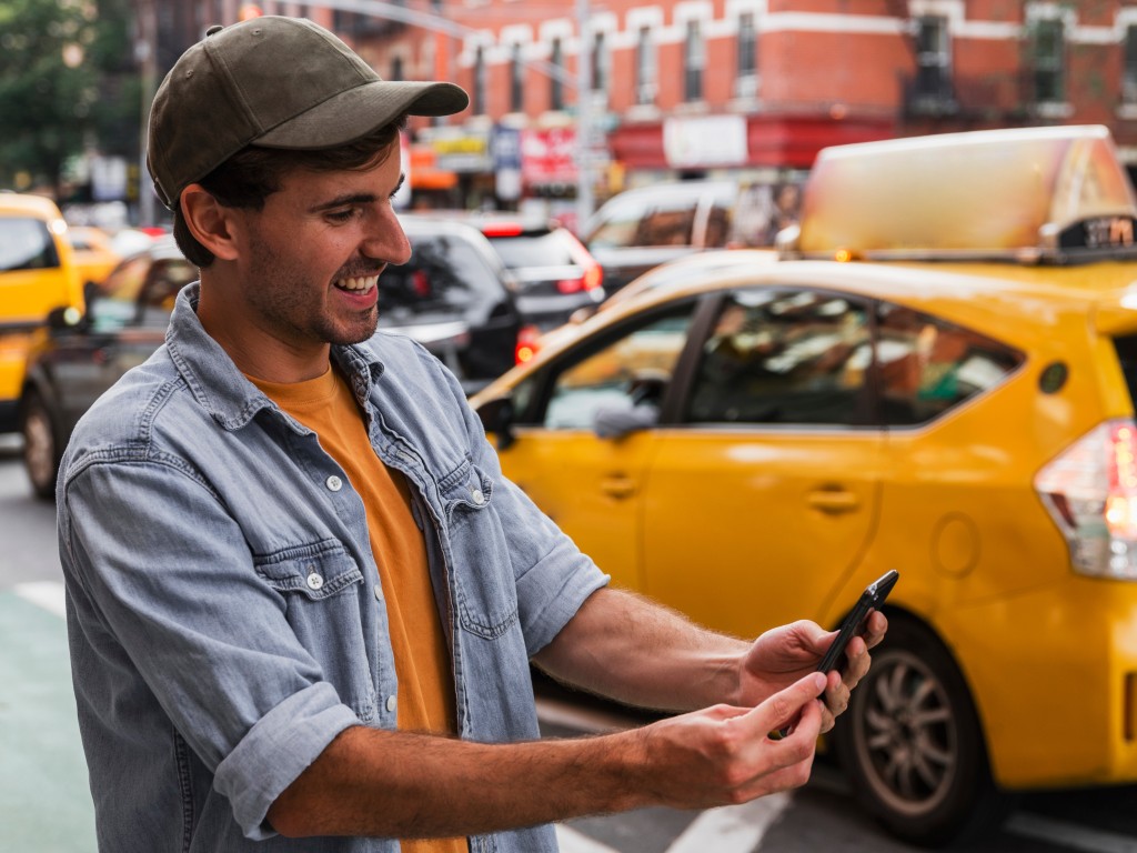
[[[83,307],[67,224],[40,196],[0,192],[0,432],[17,428],[33,332],[53,308]]]

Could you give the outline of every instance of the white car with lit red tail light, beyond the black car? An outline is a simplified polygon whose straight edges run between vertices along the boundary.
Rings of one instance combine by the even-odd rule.
[[[604,271],[573,233],[548,218],[509,212],[445,213],[481,231],[517,281],[517,309],[538,331],[604,300]]]

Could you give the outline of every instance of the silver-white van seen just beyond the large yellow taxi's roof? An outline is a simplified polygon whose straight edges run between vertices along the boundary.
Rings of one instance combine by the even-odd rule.
[[[581,229],[605,290],[614,293],[666,260],[725,247],[738,194],[737,181],[678,181],[608,199]]]

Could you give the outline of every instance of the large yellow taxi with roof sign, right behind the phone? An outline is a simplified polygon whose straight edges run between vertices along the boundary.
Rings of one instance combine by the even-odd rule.
[[[1137,202],[1101,127],[829,149],[709,264],[471,399],[615,583],[753,637],[901,579],[831,744],[921,844],[1137,781]],[[724,259],[725,260],[725,259]]]

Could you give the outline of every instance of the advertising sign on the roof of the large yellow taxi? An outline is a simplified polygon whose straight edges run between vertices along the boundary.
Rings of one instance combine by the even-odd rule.
[[[823,149],[795,257],[1057,262],[1131,254],[1137,200],[1106,127],[945,133]]]

